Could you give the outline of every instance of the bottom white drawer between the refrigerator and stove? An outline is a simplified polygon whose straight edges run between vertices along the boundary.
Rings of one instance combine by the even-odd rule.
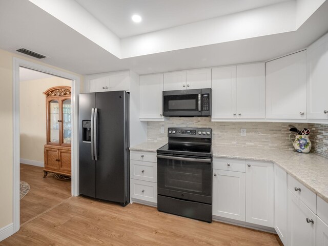
[[[157,183],[130,179],[131,198],[157,203]]]

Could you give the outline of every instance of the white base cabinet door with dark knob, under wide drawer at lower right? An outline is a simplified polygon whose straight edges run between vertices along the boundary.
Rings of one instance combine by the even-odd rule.
[[[306,219],[313,222],[306,221]],[[316,215],[288,191],[288,245],[316,245]]]

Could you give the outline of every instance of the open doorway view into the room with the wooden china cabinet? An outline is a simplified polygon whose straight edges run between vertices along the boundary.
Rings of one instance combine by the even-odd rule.
[[[71,86],[72,80],[19,68],[20,226],[71,197],[71,91],[64,96],[54,93]],[[45,94],[49,89],[51,93]],[[60,101],[64,110],[58,109]],[[59,136],[65,137],[63,143]],[[63,150],[65,161],[52,158],[52,153],[58,153],[55,148]],[[45,153],[50,153],[49,158]],[[49,175],[44,177],[44,172]]]

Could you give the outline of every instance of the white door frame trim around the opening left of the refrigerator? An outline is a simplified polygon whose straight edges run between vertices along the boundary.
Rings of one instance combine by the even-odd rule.
[[[71,195],[78,193],[78,94],[80,90],[80,77],[65,71],[33,63],[31,61],[14,57],[13,59],[13,233],[19,230],[19,180],[20,180],[20,107],[19,107],[19,68],[24,67],[39,72],[72,80],[72,155],[71,155]]]

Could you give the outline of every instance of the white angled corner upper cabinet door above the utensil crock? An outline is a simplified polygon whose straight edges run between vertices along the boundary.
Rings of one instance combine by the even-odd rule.
[[[306,119],[306,53],[267,64],[267,118]]]

